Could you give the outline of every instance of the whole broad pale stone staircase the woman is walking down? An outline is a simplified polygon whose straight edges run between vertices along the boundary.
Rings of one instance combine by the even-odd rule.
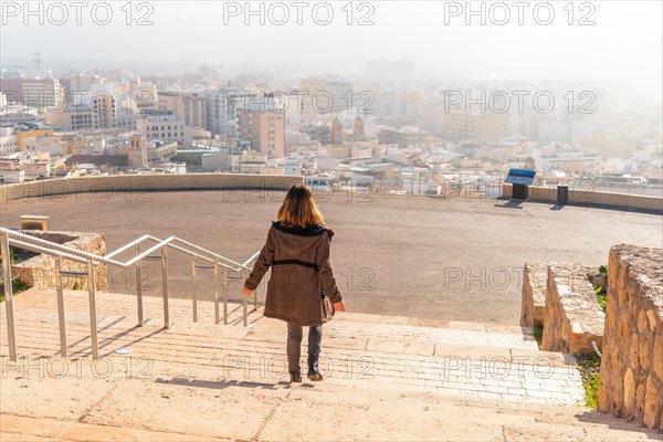
[[[87,293],[65,291],[67,358],[54,292],[14,298],[18,362],[0,314],[0,440],[661,440],[582,407],[572,358],[528,329],[339,313],[324,327],[323,382],[290,385],[285,326],[230,304],[97,293],[92,360]],[[304,343],[305,344],[305,343]],[[116,350],[130,348],[127,355]],[[303,348],[305,357],[305,346]]]

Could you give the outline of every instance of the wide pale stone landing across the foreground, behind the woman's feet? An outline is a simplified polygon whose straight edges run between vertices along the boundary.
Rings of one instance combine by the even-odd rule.
[[[293,386],[209,372],[154,379],[116,373],[95,378],[86,366],[81,372],[74,380],[59,382],[19,380],[20,399],[23,406],[30,403],[22,413],[34,418],[15,415],[19,406],[11,388],[0,417],[1,440],[171,440],[172,433],[181,434],[179,440],[256,441],[436,441],[467,440],[469,434],[471,440],[508,441],[655,438],[653,432],[581,407],[528,403],[524,408],[491,397],[455,398],[386,386],[366,389],[352,380]],[[158,434],[152,433],[156,429]]]

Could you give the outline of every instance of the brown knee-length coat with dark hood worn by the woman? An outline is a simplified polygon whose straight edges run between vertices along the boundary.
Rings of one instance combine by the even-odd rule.
[[[332,303],[343,301],[332,264],[334,232],[320,224],[290,229],[272,222],[253,272],[244,283],[255,290],[272,267],[263,315],[299,325],[320,325],[332,319]]]

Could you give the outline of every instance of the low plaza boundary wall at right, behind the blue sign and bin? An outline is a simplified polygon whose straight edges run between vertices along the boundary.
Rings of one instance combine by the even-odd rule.
[[[512,185],[502,186],[502,197],[512,197]],[[529,186],[527,201],[557,203],[557,186]],[[601,206],[643,210],[663,214],[663,198],[642,194],[613,193],[596,191],[590,188],[573,189],[569,187],[568,203],[576,206]]]

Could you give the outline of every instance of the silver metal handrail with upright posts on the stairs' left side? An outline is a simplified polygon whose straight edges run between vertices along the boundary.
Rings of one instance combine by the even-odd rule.
[[[140,245],[145,242],[155,243],[140,252]],[[223,324],[228,324],[228,283],[231,280],[244,280],[248,272],[252,269],[249,263],[259,254],[255,252],[244,263],[232,261],[218,253],[211,252],[199,245],[169,236],[166,240],[160,240],[151,235],[143,235],[122,248],[106,254],[105,256],[95,255],[82,250],[73,249],[55,242],[34,238],[14,230],[0,228],[0,249],[2,252],[2,271],[4,275],[4,306],[7,311],[7,336],[9,339],[9,358],[12,361],[17,360],[17,341],[14,329],[13,314],[13,288],[12,288],[12,272],[11,260],[9,254],[10,245],[20,249],[30,250],[33,252],[51,255],[55,260],[55,290],[57,292],[57,322],[60,325],[60,352],[66,357],[66,330],[64,323],[64,296],[63,296],[63,276],[87,276],[88,281],[88,304],[90,304],[90,326],[92,337],[92,356],[98,359],[98,340],[97,340],[97,320],[96,320],[96,296],[95,296],[95,265],[107,264],[122,269],[136,267],[136,298],[138,312],[138,326],[144,325],[143,319],[143,287],[141,287],[141,262],[143,261],[159,261],[161,262],[161,284],[164,296],[164,326],[170,327],[169,307],[168,307],[168,249],[172,249],[191,256],[191,287],[192,287],[192,311],[193,322],[198,322],[198,296],[196,291],[196,272],[197,269],[212,270],[214,273],[214,323],[220,323],[219,313],[219,270],[222,271],[223,278]],[[115,257],[124,252],[134,251],[134,256],[126,262],[116,260]],[[159,253],[160,254],[155,254]],[[65,272],[62,270],[62,260],[69,260],[80,264],[86,264],[85,272]],[[206,262],[207,264],[198,264],[196,260]],[[248,299],[243,299],[243,325],[249,325],[248,316]],[[257,296],[253,297],[253,308],[257,308]]]

